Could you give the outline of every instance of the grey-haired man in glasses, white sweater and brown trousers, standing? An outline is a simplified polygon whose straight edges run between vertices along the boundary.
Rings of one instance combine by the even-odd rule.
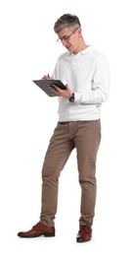
[[[40,221],[18,235],[55,236],[59,176],[75,148],[81,186],[76,241],[86,242],[92,237],[96,204],[96,159],[101,140],[101,104],[109,96],[110,68],[105,56],[85,43],[78,17],[63,15],[55,23],[54,31],[67,52],[59,57],[52,78],[61,80],[67,89],[61,90],[55,85],[52,88],[59,96],[59,122],[42,168]],[[43,78],[50,79],[48,76]]]

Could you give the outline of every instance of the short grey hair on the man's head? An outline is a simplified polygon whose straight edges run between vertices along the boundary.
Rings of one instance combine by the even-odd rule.
[[[80,28],[81,24],[77,16],[71,14],[64,14],[61,16],[54,25],[54,31],[58,33],[64,28]]]

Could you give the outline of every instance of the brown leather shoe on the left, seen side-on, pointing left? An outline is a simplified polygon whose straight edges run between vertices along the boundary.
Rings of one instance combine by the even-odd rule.
[[[55,227],[38,223],[33,225],[32,228],[26,232],[19,232],[18,235],[26,238],[37,237],[40,235],[44,235],[46,237],[55,236]]]

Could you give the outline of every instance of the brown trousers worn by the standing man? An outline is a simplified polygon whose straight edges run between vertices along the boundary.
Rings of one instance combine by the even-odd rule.
[[[100,120],[58,123],[50,140],[42,168],[40,223],[48,226],[55,225],[60,172],[75,148],[81,186],[79,224],[93,224],[97,187],[96,159],[100,140]]]

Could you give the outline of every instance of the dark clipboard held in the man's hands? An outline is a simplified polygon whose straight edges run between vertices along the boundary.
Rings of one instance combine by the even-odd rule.
[[[66,86],[62,83],[61,80],[46,80],[46,79],[40,79],[40,80],[33,80],[33,83],[35,83],[45,94],[48,96],[57,96],[52,90],[52,85],[56,85],[62,90],[66,90]]]

